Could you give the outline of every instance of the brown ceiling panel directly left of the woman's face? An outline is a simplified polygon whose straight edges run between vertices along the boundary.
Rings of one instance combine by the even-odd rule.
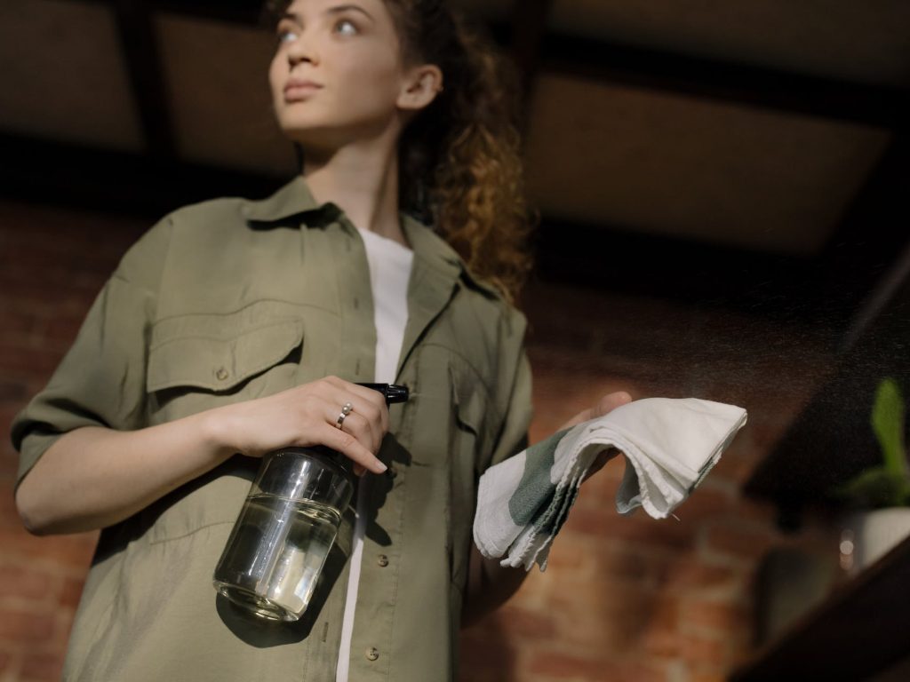
[[[156,17],[181,157],[286,176],[291,145],[271,110],[267,31],[177,15]]]

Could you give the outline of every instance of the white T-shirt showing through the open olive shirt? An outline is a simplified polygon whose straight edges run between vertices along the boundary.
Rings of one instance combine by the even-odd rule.
[[[376,371],[374,381],[394,383],[404,330],[408,324],[408,281],[414,252],[398,242],[359,230],[367,250],[369,284],[373,290],[373,320],[376,323]],[[367,501],[371,475],[360,476],[357,487],[357,520],[354,524],[348,576],[348,597],[341,623],[338,666],[335,682],[348,682],[350,642],[354,633],[354,613],[363,562],[363,537],[367,531]]]

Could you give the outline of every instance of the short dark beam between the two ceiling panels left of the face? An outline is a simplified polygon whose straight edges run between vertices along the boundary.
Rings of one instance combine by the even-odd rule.
[[[114,0],[113,9],[147,154],[162,161],[173,159],[177,142],[149,5],[146,0]]]

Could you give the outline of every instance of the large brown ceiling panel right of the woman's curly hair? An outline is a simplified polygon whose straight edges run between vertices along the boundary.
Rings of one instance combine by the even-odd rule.
[[[547,216],[809,254],[889,133],[544,75],[531,105],[531,195]]]

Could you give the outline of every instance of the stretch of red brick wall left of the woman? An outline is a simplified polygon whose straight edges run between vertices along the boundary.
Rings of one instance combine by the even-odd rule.
[[[32,537],[13,501],[9,424],[50,376],[135,221],[0,202],[0,680],[59,679],[95,534]]]

